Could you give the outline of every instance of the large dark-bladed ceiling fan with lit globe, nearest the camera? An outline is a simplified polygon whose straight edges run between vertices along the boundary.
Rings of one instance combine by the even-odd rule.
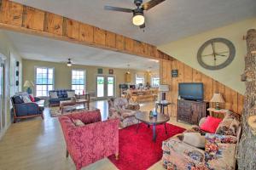
[[[149,10],[150,8],[153,8],[154,6],[164,1],[165,0],[151,0],[151,1],[148,1],[147,3],[143,3],[143,0],[134,0],[134,4],[137,6],[137,8],[135,9],[112,7],[108,5],[106,5],[104,9],[125,12],[125,13],[132,13],[133,14],[132,23],[135,26],[144,28],[146,25],[145,25],[145,17],[144,17],[143,11]]]

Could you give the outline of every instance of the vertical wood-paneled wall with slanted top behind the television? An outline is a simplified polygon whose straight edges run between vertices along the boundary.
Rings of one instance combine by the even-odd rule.
[[[172,77],[172,70],[178,70],[178,77]],[[160,80],[163,84],[169,84],[170,92],[167,93],[166,98],[175,103],[169,106],[172,116],[177,115],[177,96],[179,82],[203,82],[204,84],[204,99],[209,101],[212,99],[212,94],[218,92],[223,95],[225,103],[221,105],[222,108],[229,109],[241,114],[244,96],[237,93],[224,84],[207,77],[200,71],[185,65],[178,60],[161,60],[160,61]],[[212,104],[211,104],[212,105]]]

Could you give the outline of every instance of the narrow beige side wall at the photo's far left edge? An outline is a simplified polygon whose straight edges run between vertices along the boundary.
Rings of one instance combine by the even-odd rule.
[[[0,30],[0,54],[3,55],[5,59],[5,89],[4,89],[4,95],[5,95],[5,100],[6,103],[4,105],[4,109],[7,113],[6,116],[6,128],[8,127],[10,123],[10,108],[12,105],[10,104],[10,96],[15,94],[15,63],[16,61],[20,61],[20,72],[22,71],[22,62],[21,62],[21,56],[20,54],[17,53],[14,45],[12,42],[10,42],[9,37],[7,37],[3,31]],[[20,80],[21,82],[21,74],[20,74]],[[21,89],[21,83],[20,86],[18,87]],[[0,133],[0,138],[3,133]]]

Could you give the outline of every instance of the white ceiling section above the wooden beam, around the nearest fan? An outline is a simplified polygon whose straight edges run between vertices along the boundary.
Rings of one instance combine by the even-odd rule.
[[[255,0],[166,0],[145,11],[146,29],[143,32],[131,24],[131,14],[103,9],[104,5],[134,8],[133,0],[14,1],[154,45],[256,16]]]

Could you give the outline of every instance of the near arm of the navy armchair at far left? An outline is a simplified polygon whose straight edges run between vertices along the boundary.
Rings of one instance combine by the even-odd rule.
[[[16,116],[30,116],[40,114],[39,106],[36,103],[15,104]]]

